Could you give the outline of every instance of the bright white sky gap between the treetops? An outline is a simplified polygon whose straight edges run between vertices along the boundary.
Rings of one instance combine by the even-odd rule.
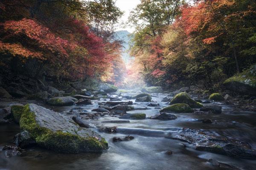
[[[130,11],[133,8],[135,8],[139,3],[140,3],[140,0],[116,0],[116,6],[125,12],[122,18],[119,20],[119,23],[126,22],[128,20]],[[123,28],[121,26],[118,26],[116,28],[116,31],[119,31],[119,30],[127,30],[131,33],[134,31],[134,28],[131,28],[131,27]]]

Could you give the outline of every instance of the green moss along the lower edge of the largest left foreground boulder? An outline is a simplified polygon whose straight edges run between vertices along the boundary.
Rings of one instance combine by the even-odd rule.
[[[101,152],[108,148],[105,139],[99,141],[95,137],[82,138],[68,132],[52,131],[41,127],[35,120],[35,113],[29,109],[29,104],[24,106],[20,118],[20,128],[27,130],[39,146],[63,153]]]

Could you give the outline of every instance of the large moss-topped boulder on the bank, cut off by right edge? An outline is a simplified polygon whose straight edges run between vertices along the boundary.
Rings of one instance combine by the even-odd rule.
[[[224,82],[228,90],[256,95],[256,65]]]

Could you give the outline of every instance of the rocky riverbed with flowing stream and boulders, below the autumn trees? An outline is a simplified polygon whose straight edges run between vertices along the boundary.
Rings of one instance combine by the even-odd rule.
[[[35,114],[36,126],[50,132],[38,133],[27,126],[25,116],[14,116],[15,107],[9,108],[9,122],[0,125],[0,169],[254,170],[256,112],[242,111],[231,97],[225,100],[218,94],[209,97],[184,91],[163,93],[160,88],[148,88],[113,93],[108,89],[84,92],[86,96],[61,95],[46,102],[2,99],[2,108],[34,103],[25,108]],[[22,138],[18,138],[21,143],[15,138],[20,146],[13,144],[20,127],[35,140],[26,140],[26,147],[20,145]],[[108,147],[105,142],[93,147],[76,140],[65,143],[60,130],[76,135],[73,138],[79,141],[104,139]],[[52,138],[57,134],[61,140],[49,143],[48,134]]]

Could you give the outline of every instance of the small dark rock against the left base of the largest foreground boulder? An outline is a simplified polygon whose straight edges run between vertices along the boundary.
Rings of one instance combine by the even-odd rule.
[[[21,148],[25,148],[31,144],[35,144],[35,140],[31,138],[28,131],[24,130],[14,136],[13,143]]]

